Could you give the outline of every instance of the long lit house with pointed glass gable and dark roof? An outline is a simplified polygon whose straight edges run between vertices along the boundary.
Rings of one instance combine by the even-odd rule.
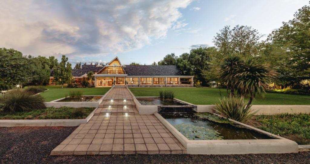
[[[191,87],[194,76],[184,76],[177,66],[122,65],[117,57],[106,65],[82,65],[81,69],[72,69],[75,83],[86,79],[89,71],[94,72],[95,87],[127,85],[132,87]],[[53,77],[49,84],[53,84]]]

